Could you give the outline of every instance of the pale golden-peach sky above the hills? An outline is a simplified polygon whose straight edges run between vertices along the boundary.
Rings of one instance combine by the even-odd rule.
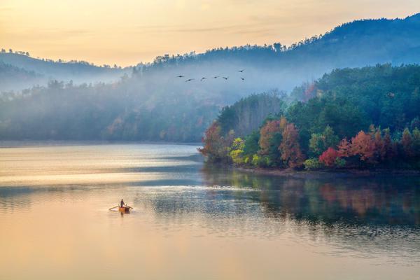
[[[129,66],[158,55],[280,42],[362,18],[405,18],[419,0],[0,0],[0,48]]]

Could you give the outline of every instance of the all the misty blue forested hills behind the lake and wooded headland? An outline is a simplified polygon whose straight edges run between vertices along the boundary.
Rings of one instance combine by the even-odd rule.
[[[290,91],[302,82],[307,86],[297,87],[293,94],[309,94],[311,82],[333,69],[416,64],[419,49],[416,14],[349,22],[289,47],[274,43],[164,55],[133,69],[3,53],[0,57],[8,59],[4,63],[23,71],[76,83],[53,82],[0,96],[0,139],[200,141],[223,106],[250,94],[278,89],[281,96],[281,90]],[[132,74],[117,82],[77,83],[106,74],[119,76],[125,70]],[[262,109],[261,116],[265,113]],[[237,118],[244,120],[240,114]]]

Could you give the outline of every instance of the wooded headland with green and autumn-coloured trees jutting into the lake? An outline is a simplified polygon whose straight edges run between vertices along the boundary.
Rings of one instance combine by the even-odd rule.
[[[200,151],[255,167],[420,169],[418,65],[335,70],[283,102],[245,137],[219,117]]]

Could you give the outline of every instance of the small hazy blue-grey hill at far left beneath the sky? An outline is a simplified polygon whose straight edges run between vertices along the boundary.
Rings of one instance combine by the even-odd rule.
[[[47,85],[49,80],[63,80],[73,83],[115,82],[132,68],[118,66],[95,66],[83,61],[64,62],[61,59],[37,59],[27,52],[0,52],[0,92],[22,90],[33,85]],[[30,73],[30,74],[28,74]]]

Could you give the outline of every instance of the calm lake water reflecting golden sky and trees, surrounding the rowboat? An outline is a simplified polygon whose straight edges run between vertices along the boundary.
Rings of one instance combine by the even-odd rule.
[[[196,148],[3,144],[0,279],[420,279],[419,177],[256,176]]]

